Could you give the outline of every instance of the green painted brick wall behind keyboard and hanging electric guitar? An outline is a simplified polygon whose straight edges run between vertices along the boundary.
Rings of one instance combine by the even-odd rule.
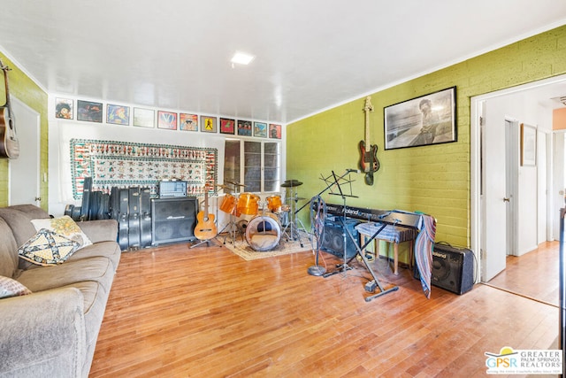
[[[373,186],[353,174],[347,204],[432,214],[437,241],[470,245],[470,97],[566,73],[566,27],[558,27],[440,71],[371,95],[371,143],[379,145],[381,167]],[[383,150],[383,108],[456,86],[456,143]],[[325,188],[321,176],[356,168],[364,138],[364,98],[287,125],[287,179],[304,184],[301,197]],[[348,189],[349,190],[349,189]],[[341,197],[325,196],[341,204]],[[308,212],[300,213],[307,221]],[[309,227],[307,225],[307,227]]]

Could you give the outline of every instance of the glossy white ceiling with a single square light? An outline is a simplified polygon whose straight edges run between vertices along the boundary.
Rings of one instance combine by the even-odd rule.
[[[51,94],[287,123],[563,24],[563,0],[3,0],[0,50]]]

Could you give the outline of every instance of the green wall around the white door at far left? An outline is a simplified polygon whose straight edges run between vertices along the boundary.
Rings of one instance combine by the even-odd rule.
[[[49,127],[47,122],[47,93],[43,91],[39,86],[37,86],[34,81],[32,81],[26,73],[23,73],[21,69],[14,65],[10,59],[6,58],[2,53],[0,53],[0,58],[4,65],[9,66],[11,71],[8,73],[8,84],[10,86],[11,96],[17,97],[20,101],[27,104],[30,108],[34,109],[41,116],[41,177],[43,174],[48,173],[48,133]],[[0,81],[0,104],[5,104],[4,96],[4,73],[2,73],[2,81]],[[18,114],[14,114],[16,120],[16,135],[18,135],[18,130],[20,127],[26,127],[26,125],[18,123]],[[25,150],[20,151],[20,154],[26,153]],[[0,206],[6,206],[8,204],[8,170],[9,170],[9,159],[0,159]],[[42,208],[47,210],[48,206],[48,183],[41,182],[40,193],[42,197]]]

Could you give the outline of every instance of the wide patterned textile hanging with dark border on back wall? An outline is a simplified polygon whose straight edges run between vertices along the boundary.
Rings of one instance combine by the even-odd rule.
[[[217,149],[166,144],[71,140],[73,197],[82,197],[85,177],[92,189],[149,187],[157,194],[159,181],[187,181],[187,196],[203,197],[217,183]]]

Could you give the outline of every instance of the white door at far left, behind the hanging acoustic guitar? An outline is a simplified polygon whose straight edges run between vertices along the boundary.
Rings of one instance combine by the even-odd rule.
[[[9,204],[40,205],[40,115],[11,97],[19,158],[10,159]]]

